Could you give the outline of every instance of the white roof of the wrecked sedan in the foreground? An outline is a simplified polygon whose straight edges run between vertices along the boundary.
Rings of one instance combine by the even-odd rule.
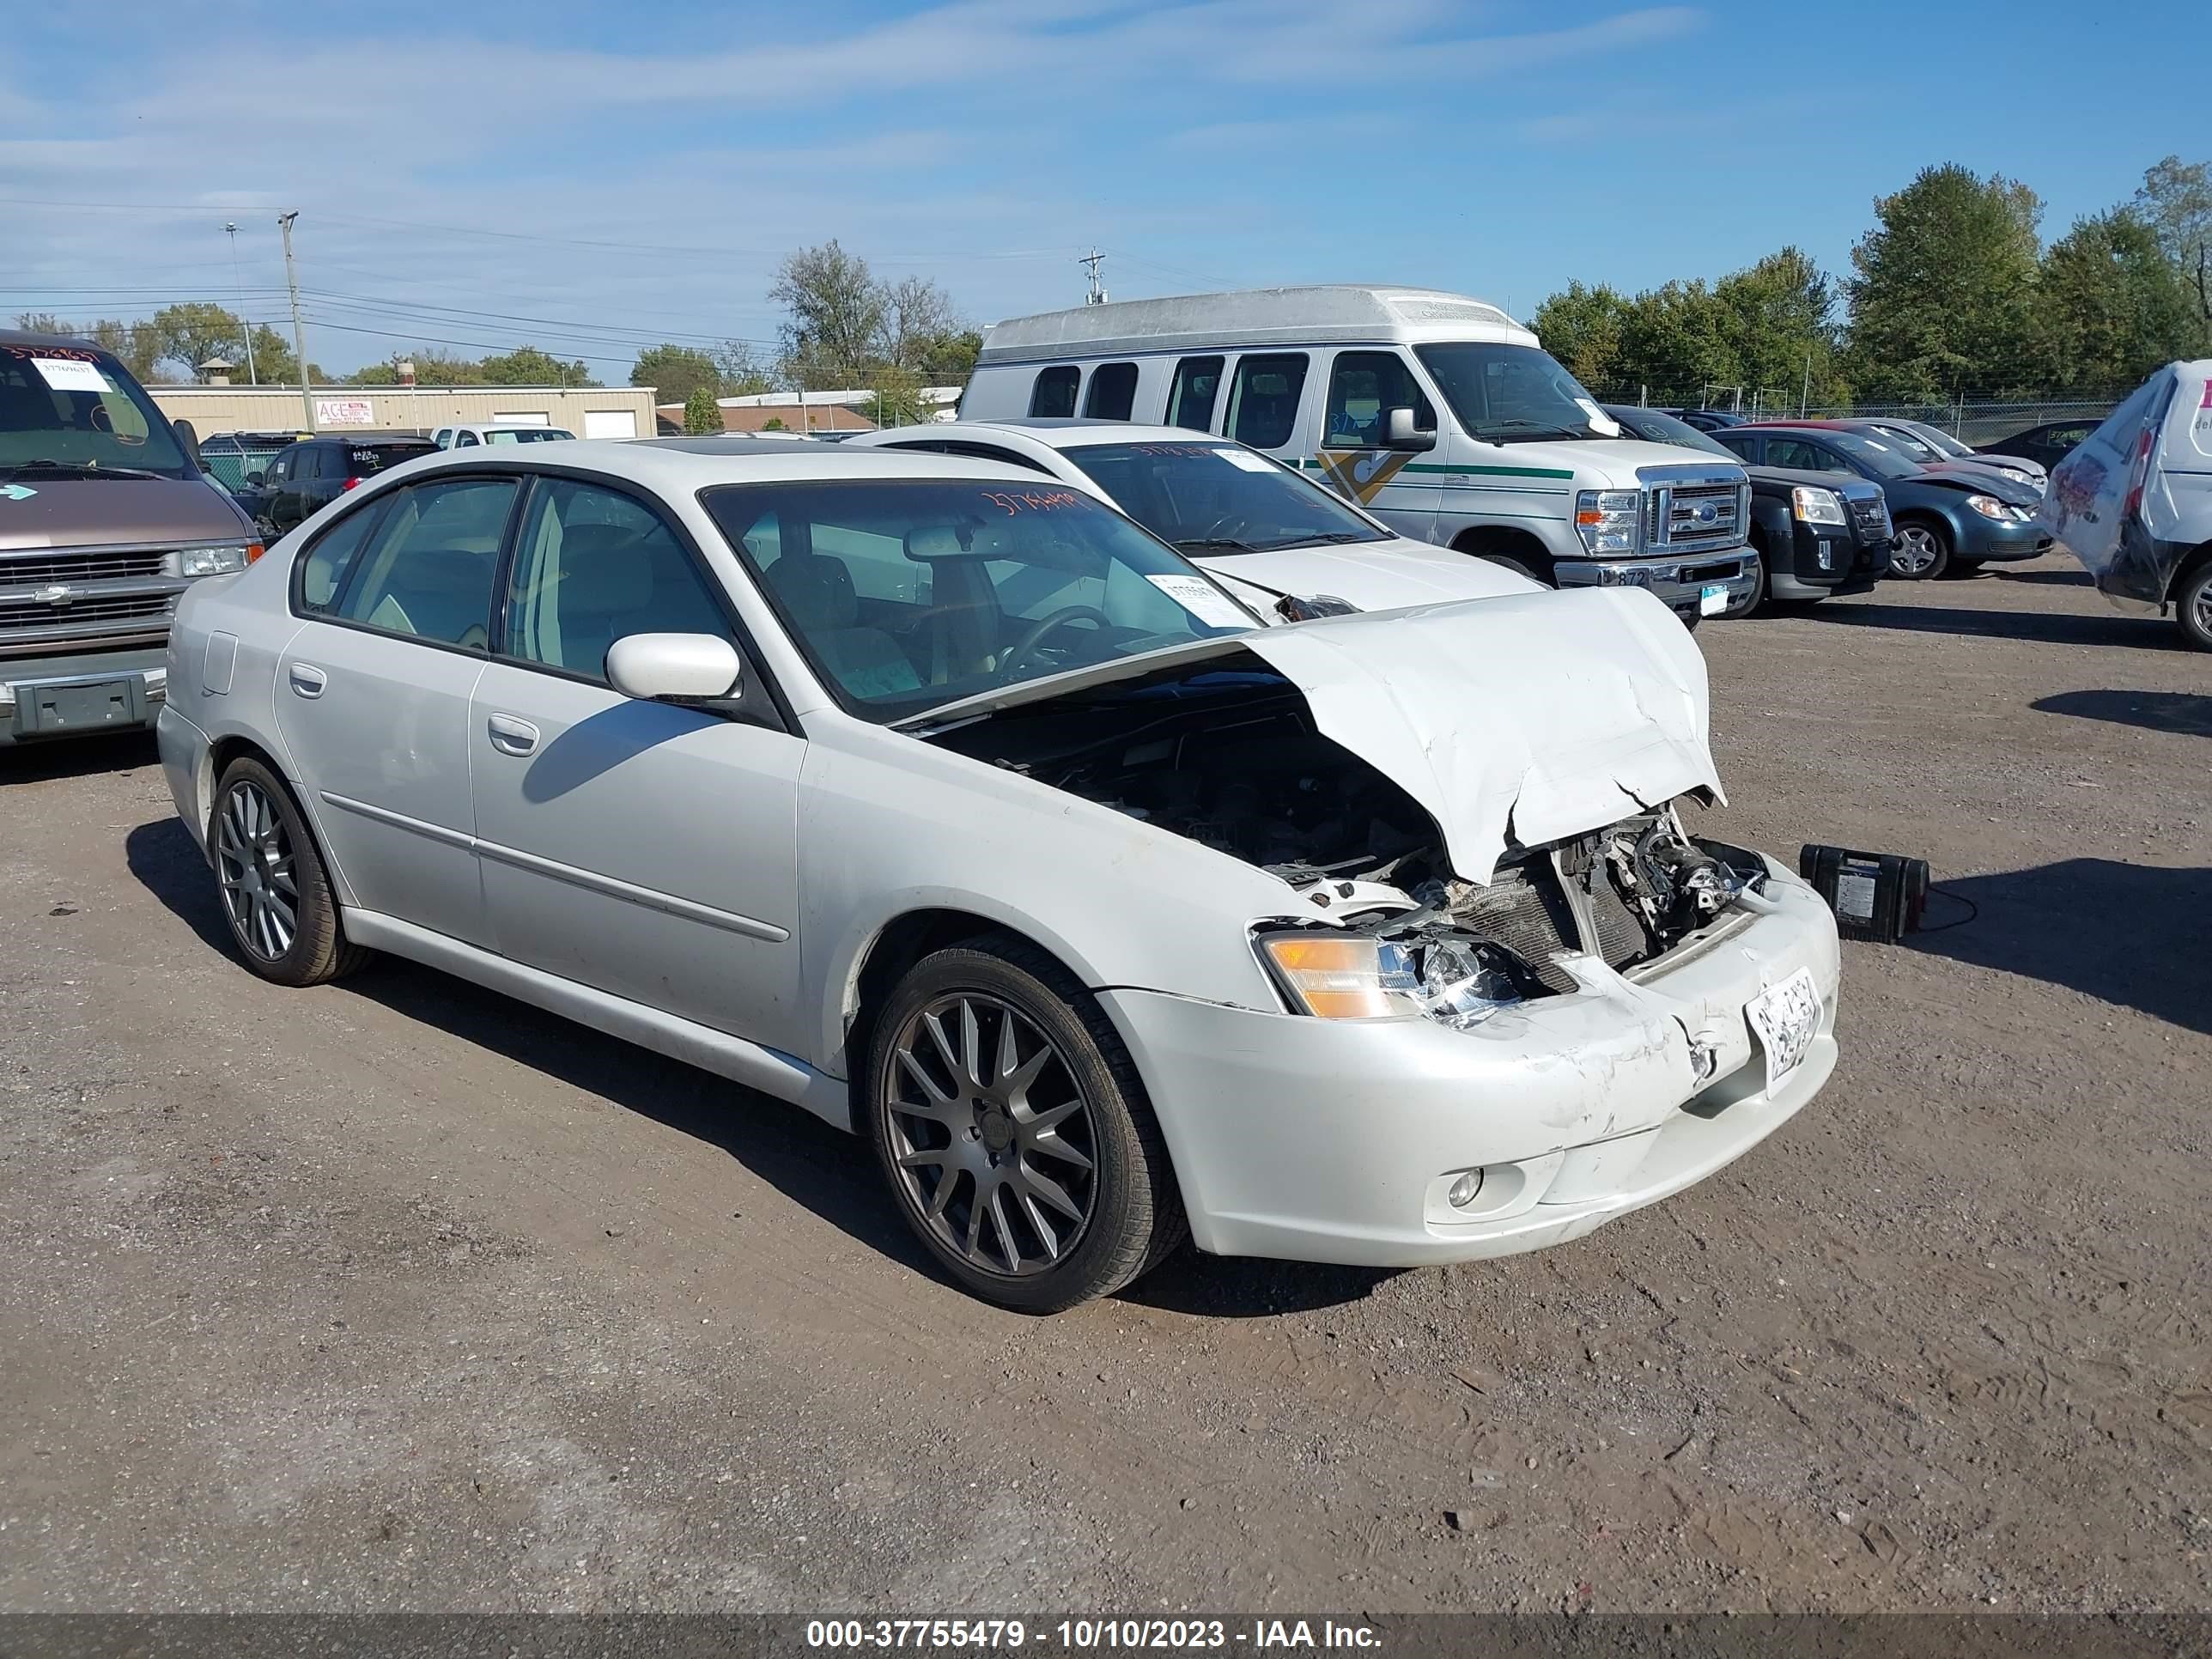
[[[1018,478],[1037,476],[1004,460],[938,456],[927,449],[860,449],[854,445],[759,442],[714,438],[571,438],[557,445],[502,445],[498,451],[434,449],[383,478],[425,478],[449,469],[597,471],[661,491],[690,495],[714,484],[836,482],[860,478]]]

